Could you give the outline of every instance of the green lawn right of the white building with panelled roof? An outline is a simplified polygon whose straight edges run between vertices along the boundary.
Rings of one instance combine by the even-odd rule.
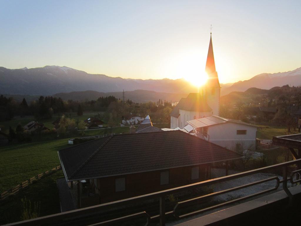
[[[262,140],[272,140],[273,136],[288,135],[287,128],[279,126],[262,126],[258,125],[260,130],[257,130],[257,138]],[[297,131],[291,131],[290,134],[297,133]]]

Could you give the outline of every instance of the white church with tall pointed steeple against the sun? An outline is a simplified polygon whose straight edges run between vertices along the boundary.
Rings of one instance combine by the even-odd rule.
[[[199,93],[189,93],[186,98],[182,98],[170,113],[170,128],[183,128],[191,119],[219,116],[219,101],[221,87],[215,69],[212,35],[210,33],[209,49],[205,71],[208,81],[200,88]]]

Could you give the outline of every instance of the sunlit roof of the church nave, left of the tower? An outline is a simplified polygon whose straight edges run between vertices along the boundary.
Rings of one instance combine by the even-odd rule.
[[[189,93],[187,98],[182,98],[170,113],[170,116],[178,118],[180,109],[185,111],[212,111],[205,98],[200,93]]]

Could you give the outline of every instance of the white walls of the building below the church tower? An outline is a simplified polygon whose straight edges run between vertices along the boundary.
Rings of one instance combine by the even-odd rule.
[[[237,134],[237,130],[247,130],[247,134]],[[237,124],[232,122],[216,124],[208,127],[209,141],[219,146],[236,151],[236,144],[242,149],[256,148],[256,131],[253,126]]]

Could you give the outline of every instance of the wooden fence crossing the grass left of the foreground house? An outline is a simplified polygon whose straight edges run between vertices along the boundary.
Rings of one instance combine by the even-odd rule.
[[[52,168],[51,170],[47,170],[41,174],[38,174],[36,175],[35,177],[31,177],[30,179],[28,180],[25,180],[23,181],[21,184],[18,184],[16,187],[13,187],[11,188],[10,190],[7,190],[5,192],[2,192],[0,194],[0,200],[3,200],[5,199],[6,197],[10,196],[10,195],[13,195],[17,192],[19,192],[20,190],[26,188],[29,184],[32,184],[34,181],[37,181],[37,180],[40,180],[43,176],[45,175],[49,175],[49,174],[52,174],[54,171],[57,171],[61,169],[61,166],[57,166],[57,167],[54,167]]]

